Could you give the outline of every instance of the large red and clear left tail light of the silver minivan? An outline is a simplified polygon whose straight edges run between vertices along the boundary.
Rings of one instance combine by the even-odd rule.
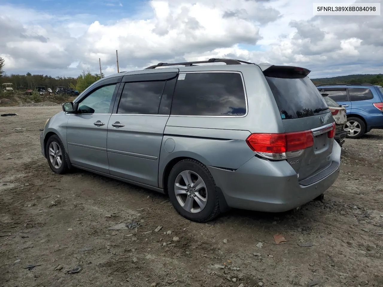
[[[284,160],[302,155],[305,148],[314,145],[314,137],[311,130],[284,134],[251,134],[246,142],[262,157]]]

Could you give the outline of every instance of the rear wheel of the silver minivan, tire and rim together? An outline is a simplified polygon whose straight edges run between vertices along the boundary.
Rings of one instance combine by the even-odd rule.
[[[182,160],[168,178],[170,202],[183,217],[206,222],[219,215],[218,191],[213,176],[196,160]]]

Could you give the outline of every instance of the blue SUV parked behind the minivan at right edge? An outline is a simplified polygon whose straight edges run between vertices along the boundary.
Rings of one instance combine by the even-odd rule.
[[[317,85],[340,106],[346,108],[344,130],[350,139],[358,139],[372,129],[383,129],[383,88],[368,83]]]

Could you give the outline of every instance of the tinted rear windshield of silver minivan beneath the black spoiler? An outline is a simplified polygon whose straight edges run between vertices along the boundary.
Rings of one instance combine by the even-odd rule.
[[[265,77],[282,119],[297,119],[328,112],[326,102],[308,77],[290,73],[265,73]]]

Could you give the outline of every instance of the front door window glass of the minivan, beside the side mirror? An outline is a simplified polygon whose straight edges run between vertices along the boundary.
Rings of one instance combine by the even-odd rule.
[[[81,114],[108,114],[116,85],[103,86],[90,93],[79,103],[79,112]]]

